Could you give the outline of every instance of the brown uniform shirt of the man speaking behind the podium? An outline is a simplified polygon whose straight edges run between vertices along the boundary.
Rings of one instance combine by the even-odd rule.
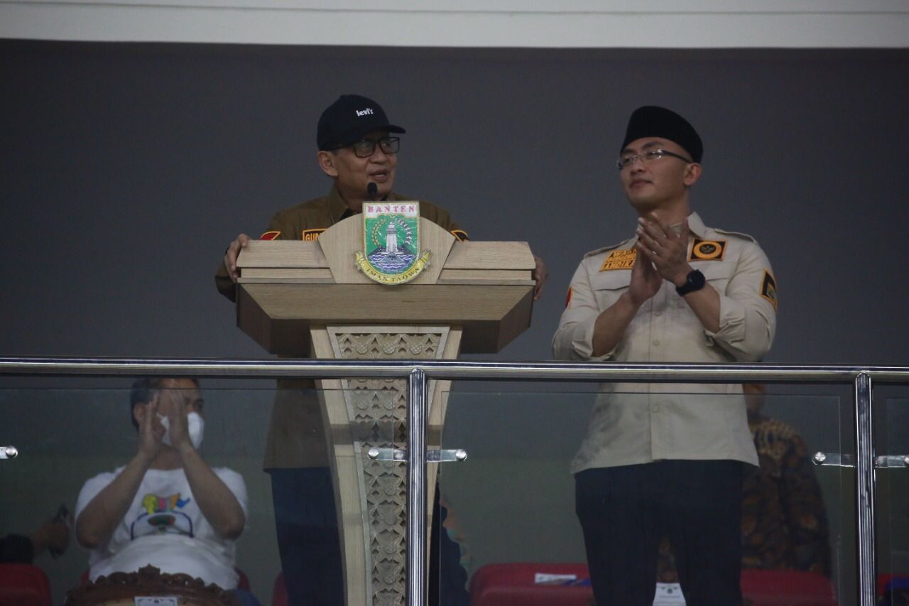
[[[392,193],[386,199],[412,200]],[[275,214],[262,235],[269,240],[316,240],[326,228],[354,214],[332,187],[328,196],[317,197]],[[450,231],[454,237],[467,239],[467,234],[454,222],[445,209],[420,201],[420,217],[425,217]],[[218,290],[236,300],[236,285],[230,279],[224,263],[215,274]],[[265,443],[265,469],[325,467],[328,449],[322,425],[322,412],[315,393],[315,383],[309,379],[279,380],[272,409],[271,425]]]

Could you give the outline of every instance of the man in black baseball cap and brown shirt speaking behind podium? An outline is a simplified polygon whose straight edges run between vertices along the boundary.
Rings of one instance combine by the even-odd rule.
[[[326,228],[362,211],[365,200],[411,200],[396,194],[395,168],[401,126],[391,124],[385,111],[370,98],[340,96],[319,118],[316,132],[318,163],[334,185],[328,196],[317,197],[272,217],[262,239],[315,240]],[[420,217],[467,239],[445,209],[420,201]],[[225,252],[215,282],[225,297],[235,300],[239,272],[236,258],[249,242],[240,234]],[[538,261],[537,277],[545,269]],[[539,279],[539,295],[543,280]],[[272,479],[275,525],[285,585],[291,604],[331,606],[344,603],[344,572],[335,513],[335,493],[329,470],[322,415],[312,380],[278,383],[275,407],[265,445],[265,470]],[[436,499],[436,502],[438,500]],[[444,510],[434,516],[436,524]],[[442,592],[454,595],[445,603],[466,601],[466,574],[457,567],[457,547],[444,532],[434,535],[441,550],[455,551],[443,560]],[[436,553],[438,550],[436,550]],[[454,561],[454,568],[446,568]],[[431,569],[433,573],[436,568]],[[433,585],[434,576],[430,578]],[[439,591],[435,591],[439,595]]]

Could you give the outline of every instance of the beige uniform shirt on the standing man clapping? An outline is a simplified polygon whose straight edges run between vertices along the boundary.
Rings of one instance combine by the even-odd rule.
[[[623,338],[593,352],[594,321],[628,289],[637,237],[584,256],[553,338],[556,359],[622,362],[756,361],[776,327],[776,285],[752,237],[688,217],[688,262],[720,295],[720,329],[704,328],[672,283],[638,309]],[[661,459],[757,465],[739,384],[604,383],[572,472]]]

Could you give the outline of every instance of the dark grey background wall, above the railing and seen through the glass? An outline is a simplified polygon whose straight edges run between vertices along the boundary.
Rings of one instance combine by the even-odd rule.
[[[549,359],[578,261],[633,233],[614,158],[631,111],[655,104],[704,138],[694,209],[708,226],[757,238],[774,265],[780,311],[765,359],[909,365],[907,73],[906,49],[0,41],[0,356],[265,357],[235,328],[215,268],[238,232],[258,236],[276,210],[327,193],[315,124],[338,95],[360,93],[408,129],[397,191],[448,208],[474,240],[527,240],[548,263],[533,327],[497,359]],[[0,444],[23,452],[0,467],[0,484],[15,486],[0,530],[34,529],[61,500],[72,506],[85,478],[123,464],[128,384],[0,393]],[[206,409],[206,453],[245,475],[238,564],[267,600],[279,567],[261,473],[273,383],[214,393],[222,385],[205,381],[217,404]],[[547,388],[574,389],[534,389]],[[472,571],[495,559],[583,560],[568,460],[592,396],[473,389],[455,390],[446,431],[472,463],[442,479]],[[812,452],[849,452],[849,390],[818,392],[777,394],[768,412]],[[878,452],[905,451],[904,406],[893,409],[904,392],[882,400],[890,437]],[[853,473],[817,470],[844,604],[854,595]],[[879,473],[884,571],[909,570],[901,473]],[[85,552],[41,565],[59,599]]]

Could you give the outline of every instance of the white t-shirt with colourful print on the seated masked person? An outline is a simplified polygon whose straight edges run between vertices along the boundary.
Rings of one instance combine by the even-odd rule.
[[[76,519],[123,469],[98,474],[85,482],[75,504]],[[243,477],[227,468],[213,471],[246,513]],[[88,561],[92,581],[111,572],[135,572],[151,564],[165,573],[200,577],[225,590],[236,588],[234,562],[235,541],[219,536],[205,520],[182,469],[146,471],[125,518],[110,540],[91,551]]]

